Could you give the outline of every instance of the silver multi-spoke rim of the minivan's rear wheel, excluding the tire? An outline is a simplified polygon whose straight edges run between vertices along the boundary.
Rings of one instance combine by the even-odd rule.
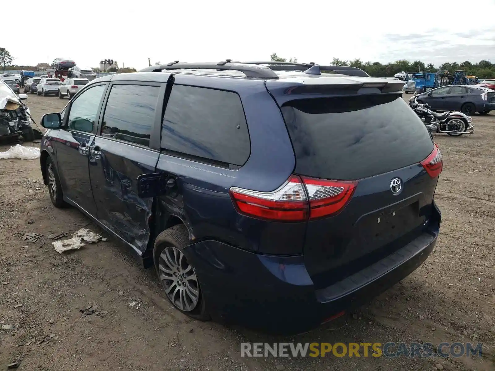
[[[195,309],[199,300],[198,278],[182,251],[173,246],[165,247],[160,254],[158,271],[170,301],[183,312]]]

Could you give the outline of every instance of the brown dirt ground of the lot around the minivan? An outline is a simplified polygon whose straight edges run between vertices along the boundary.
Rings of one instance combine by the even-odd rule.
[[[67,100],[30,95],[27,102],[39,120]],[[164,299],[154,272],[112,239],[58,254],[47,236],[89,220],[52,207],[38,160],[0,160],[0,321],[19,324],[0,329],[0,368],[20,357],[19,370],[419,371],[439,363],[444,370],[494,370],[495,112],[473,123],[472,136],[435,136],[444,154],[436,193],[443,222],[425,264],[359,312],[291,338],[190,320]],[[26,242],[25,232],[45,236]],[[82,318],[79,310],[90,305],[108,314]],[[277,360],[241,358],[242,341],[473,341],[484,348],[482,358]]]

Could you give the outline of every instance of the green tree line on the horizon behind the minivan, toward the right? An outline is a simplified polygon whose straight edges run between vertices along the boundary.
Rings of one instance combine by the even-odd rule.
[[[287,60],[287,58],[281,58],[277,53],[270,55],[270,60],[275,62],[297,62],[297,58],[292,57]],[[457,62],[447,62],[439,66],[435,66],[433,63],[425,64],[420,60],[411,62],[407,59],[399,59],[395,62],[389,62],[387,64],[382,64],[380,62],[363,62],[360,58],[354,60],[343,60],[339,58],[333,58],[330,65],[333,66],[350,66],[357,67],[365,71],[370,76],[387,76],[392,77],[398,72],[417,72],[417,71],[429,71],[436,72],[437,70],[448,70],[448,72],[453,73],[457,70],[467,71],[467,75],[477,76],[480,79],[490,79],[495,78],[495,63],[489,60],[481,60],[478,63],[472,63],[468,60],[457,63]]]

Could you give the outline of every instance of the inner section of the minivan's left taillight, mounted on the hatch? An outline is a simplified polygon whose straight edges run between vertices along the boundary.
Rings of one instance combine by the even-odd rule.
[[[302,177],[309,195],[310,219],[340,213],[354,194],[357,181],[328,181]]]

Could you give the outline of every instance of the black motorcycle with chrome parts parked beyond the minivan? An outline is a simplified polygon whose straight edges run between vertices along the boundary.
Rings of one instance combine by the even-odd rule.
[[[471,124],[471,117],[462,112],[442,112],[432,111],[428,103],[418,103],[417,95],[409,99],[409,106],[419,116],[431,133],[447,133],[452,137],[459,137],[463,134],[473,134],[474,127]]]

